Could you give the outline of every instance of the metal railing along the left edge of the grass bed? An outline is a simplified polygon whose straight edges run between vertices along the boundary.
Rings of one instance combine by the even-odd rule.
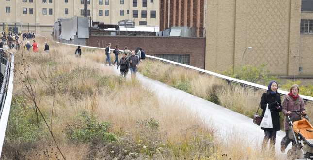
[[[0,88],[0,159],[9,119],[13,90],[14,55],[10,52],[9,57],[10,58],[7,57],[7,54],[0,54],[0,61],[5,65],[5,72]]]

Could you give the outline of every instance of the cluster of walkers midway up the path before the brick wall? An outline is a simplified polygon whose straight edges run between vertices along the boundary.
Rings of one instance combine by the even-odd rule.
[[[137,67],[138,67],[139,63],[141,62],[141,60],[146,58],[146,54],[142,50],[142,48],[137,47],[135,50],[130,51],[130,50],[128,50],[128,47],[125,46],[125,50],[122,53],[123,56],[118,61],[118,55],[119,55],[120,51],[119,51],[118,45],[115,45],[115,49],[113,51],[113,53],[115,54],[115,61],[113,62],[112,65],[110,62],[111,61],[110,60],[110,53],[111,53],[110,49],[111,49],[111,43],[109,43],[108,46],[105,48],[105,55],[107,57],[105,60],[105,65],[107,64],[107,62],[109,63],[109,66],[114,66],[116,63],[117,69],[120,66],[120,72],[124,78],[126,78],[128,70],[131,70],[131,76],[132,76],[132,78],[135,78],[136,73],[137,73]]]

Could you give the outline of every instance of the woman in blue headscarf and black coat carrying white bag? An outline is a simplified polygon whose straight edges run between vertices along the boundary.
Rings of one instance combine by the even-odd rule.
[[[264,130],[264,139],[262,143],[262,148],[265,149],[267,147],[268,140],[270,140],[270,150],[275,151],[275,141],[276,141],[276,131],[280,130],[280,116],[279,112],[281,112],[281,99],[280,94],[277,92],[278,85],[276,81],[271,81],[268,85],[267,92],[262,94],[261,97],[261,109],[262,117],[264,117],[264,113],[266,110],[266,106],[268,104],[268,109],[271,112],[273,128],[263,128]]]

